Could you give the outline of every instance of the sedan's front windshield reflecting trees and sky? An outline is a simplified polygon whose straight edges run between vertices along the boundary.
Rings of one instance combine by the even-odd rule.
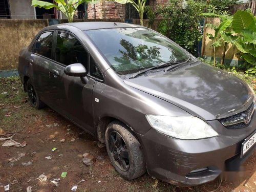
[[[145,28],[114,28],[85,31],[119,75],[181,62],[189,56],[172,41]]]

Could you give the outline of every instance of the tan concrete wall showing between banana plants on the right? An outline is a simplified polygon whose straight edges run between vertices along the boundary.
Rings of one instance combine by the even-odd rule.
[[[218,26],[218,25],[220,25],[220,19],[219,18],[206,18],[205,24],[207,24],[207,23],[215,24]],[[201,55],[204,58],[212,60],[213,55],[214,55],[214,49],[212,47],[210,47],[211,40],[207,37],[207,35],[206,35],[207,33],[211,33],[212,35],[214,35],[215,31],[210,28],[204,29]],[[216,52],[217,60],[221,60],[222,51],[223,51],[223,46],[217,48],[217,52]],[[236,48],[232,47],[231,44],[229,44],[227,47],[227,50],[226,50],[225,62],[229,63],[231,65],[237,65],[239,62],[239,57],[236,55],[237,53],[239,53],[239,51]]]

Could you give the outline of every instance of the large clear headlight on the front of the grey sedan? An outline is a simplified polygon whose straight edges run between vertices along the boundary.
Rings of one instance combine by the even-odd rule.
[[[216,131],[198,117],[146,115],[146,119],[155,130],[178,139],[191,140],[218,136]]]

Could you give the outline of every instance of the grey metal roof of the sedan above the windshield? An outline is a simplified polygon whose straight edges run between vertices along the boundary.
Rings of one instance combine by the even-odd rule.
[[[76,22],[76,23],[67,23],[49,26],[45,29],[56,29],[61,27],[62,29],[65,26],[73,26],[81,31],[94,30],[94,29],[107,29],[107,28],[145,28],[139,25],[126,24],[126,23],[117,23],[117,22]]]

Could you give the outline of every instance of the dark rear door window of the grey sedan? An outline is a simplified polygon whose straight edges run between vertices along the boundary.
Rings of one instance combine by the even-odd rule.
[[[42,33],[36,41],[35,53],[52,58],[53,31]]]

